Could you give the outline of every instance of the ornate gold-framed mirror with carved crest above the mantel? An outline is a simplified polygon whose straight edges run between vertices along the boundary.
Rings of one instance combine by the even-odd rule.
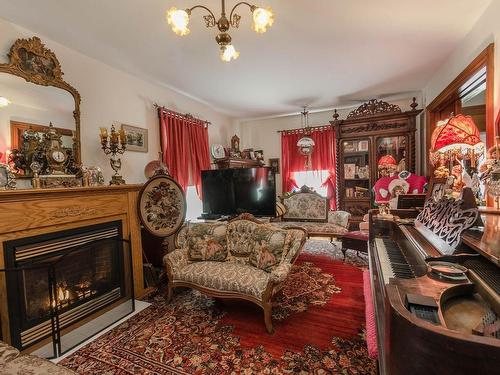
[[[8,59],[0,64],[0,152],[19,150],[26,131],[41,136],[52,124],[79,164],[80,94],[63,80],[56,55],[34,36],[18,39]]]

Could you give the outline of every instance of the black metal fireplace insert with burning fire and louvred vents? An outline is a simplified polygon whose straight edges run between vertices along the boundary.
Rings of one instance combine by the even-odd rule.
[[[130,290],[122,238],[113,221],[4,242],[12,344],[53,335],[56,310],[63,330],[121,300]]]

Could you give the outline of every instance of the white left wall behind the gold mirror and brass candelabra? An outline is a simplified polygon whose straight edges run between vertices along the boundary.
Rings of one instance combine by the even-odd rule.
[[[80,92],[82,161],[85,165],[101,167],[106,180],[109,180],[112,171],[109,158],[100,149],[99,127],[110,127],[112,123],[117,122],[148,128],[149,151],[147,153],[129,151],[122,157],[122,175],[125,180],[128,183],[143,182],[144,166],[158,157],[160,148],[158,117],[153,108],[155,102],[178,112],[191,113],[211,121],[210,144],[228,143],[228,137],[232,132],[229,130],[232,129],[230,117],[169,88],[119,71],[45,38],[36,31],[24,29],[2,19],[0,19],[0,61],[2,63],[8,61],[7,53],[16,39],[34,35],[40,37],[42,42],[56,54],[64,72],[64,79]]]

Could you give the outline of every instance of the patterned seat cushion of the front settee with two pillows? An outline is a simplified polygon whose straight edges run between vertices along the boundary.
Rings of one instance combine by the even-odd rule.
[[[271,274],[239,262],[194,262],[176,272],[175,281],[206,288],[237,292],[261,299]]]

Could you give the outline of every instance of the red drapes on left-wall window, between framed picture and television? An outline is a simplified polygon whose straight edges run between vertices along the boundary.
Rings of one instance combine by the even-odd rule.
[[[201,196],[201,171],[210,169],[207,125],[165,108],[158,109],[163,161],[182,186],[195,185]]]

